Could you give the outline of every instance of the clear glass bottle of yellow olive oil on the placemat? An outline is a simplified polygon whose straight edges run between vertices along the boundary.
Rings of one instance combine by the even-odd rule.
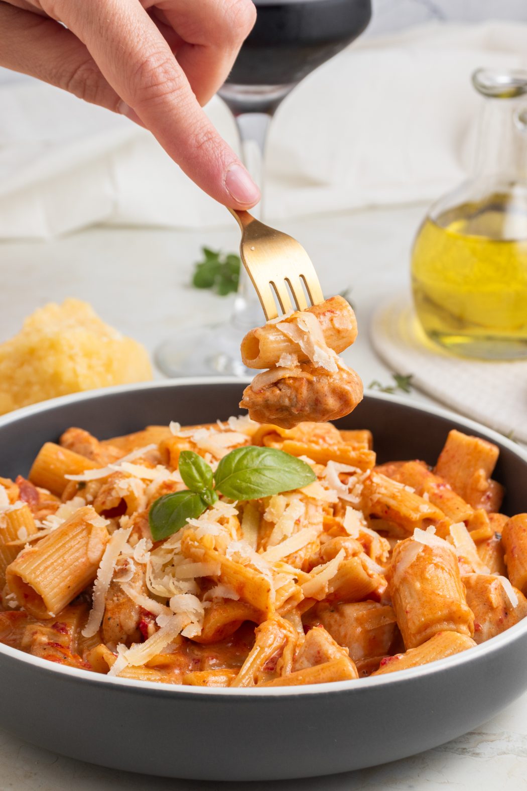
[[[472,82],[484,97],[475,174],[417,233],[414,304],[447,350],[527,358],[527,71],[478,70]]]

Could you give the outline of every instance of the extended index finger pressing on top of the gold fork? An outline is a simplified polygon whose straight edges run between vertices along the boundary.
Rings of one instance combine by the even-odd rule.
[[[125,105],[201,189],[232,208],[258,202],[258,187],[202,111],[170,47],[137,0],[44,0],[41,6],[84,42]]]

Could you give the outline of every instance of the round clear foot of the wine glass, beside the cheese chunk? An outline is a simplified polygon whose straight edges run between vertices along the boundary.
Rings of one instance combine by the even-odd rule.
[[[233,324],[186,327],[157,347],[154,360],[167,377],[250,377],[240,358],[245,333]]]

